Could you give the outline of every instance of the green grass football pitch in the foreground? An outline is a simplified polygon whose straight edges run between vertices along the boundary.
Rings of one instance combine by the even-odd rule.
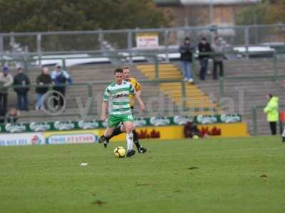
[[[0,212],[285,212],[279,137],[142,143],[1,147]]]

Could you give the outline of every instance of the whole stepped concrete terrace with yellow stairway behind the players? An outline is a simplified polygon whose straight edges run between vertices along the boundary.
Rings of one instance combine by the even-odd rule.
[[[198,64],[198,63],[197,63]],[[196,65],[197,65],[196,64]],[[285,70],[285,62],[278,60],[276,64],[279,75],[282,71]],[[78,116],[74,114],[79,114],[78,111],[78,102],[76,102],[76,97],[81,98],[81,104],[83,107],[86,106],[88,100],[88,94],[90,91],[93,95],[93,100],[102,97],[103,88],[113,79],[113,70],[118,65],[75,65],[73,67],[68,67],[68,72],[73,76],[75,84],[71,87],[68,87],[66,92],[67,97],[67,108],[60,114],[56,116],[56,119],[61,121],[68,120],[77,120]],[[53,70],[54,67],[50,67]],[[154,64],[140,64],[140,65],[131,65],[132,74],[134,77],[138,78],[140,81],[153,80],[155,78],[155,65]],[[10,67],[11,74],[16,74],[16,68]],[[180,65],[178,64],[167,64],[160,63],[159,66],[159,77],[165,80],[182,80]],[[199,67],[197,67],[199,70]],[[212,63],[209,63],[208,70],[212,70]],[[202,114],[210,114],[211,111],[207,110],[214,109],[217,113],[239,113],[242,114],[244,121],[247,121],[249,124],[249,132],[253,133],[253,121],[252,121],[252,106],[262,106],[265,104],[266,93],[271,92],[272,94],[279,97],[279,104],[284,104],[284,85],[281,83],[281,79],[274,82],[272,76],[274,75],[274,64],[270,58],[267,59],[252,59],[249,60],[226,60],[224,62],[225,70],[225,79],[224,79],[224,97],[232,97],[234,100],[235,108],[234,111],[229,111],[229,109],[223,109],[222,106],[219,106],[220,97],[220,87],[219,81],[212,80],[212,74],[207,75],[207,80],[201,82],[197,80],[195,84],[185,84],[185,94],[187,98],[190,98],[189,102],[186,102],[186,108],[192,107],[201,107],[197,103],[203,100],[204,111]],[[35,82],[36,76],[40,73],[41,70],[38,67],[29,67],[28,75],[31,79],[31,82]],[[271,76],[266,78],[266,76]],[[230,79],[227,79],[230,78]],[[94,82],[90,84],[88,88],[88,82]],[[158,102],[152,102],[152,109],[157,111],[149,111],[149,114],[141,116],[171,116],[173,114],[178,114],[178,109],[182,106],[182,102],[178,100],[182,97],[182,83],[181,82],[144,82],[143,84],[142,99],[147,102],[150,97],[160,97],[163,99],[163,107],[159,106]],[[22,112],[19,121],[54,121],[55,117],[44,116],[42,111],[34,111],[34,105],[36,103],[36,94],[34,88],[28,93],[29,98],[29,108],[30,111]],[[243,92],[242,92],[243,91]],[[160,92],[162,92],[160,94]],[[240,95],[243,93],[244,101],[240,103]],[[213,97],[217,97],[215,100]],[[193,102],[194,100],[194,102]],[[100,114],[100,101],[99,99],[97,104],[92,104],[90,111],[88,113],[92,114],[88,116],[88,119],[98,119],[98,114]],[[10,89],[9,90],[9,107],[16,106],[16,93]],[[239,104],[244,104],[241,109],[237,108]],[[165,107],[166,106],[166,107]],[[174,110],[171,111],[171,107]],[[163,108],[163,109],[160,109]],[[171,114],[172,113],[172,114]],[[187,114],[187,112],[185,113]],[[261,109],[257,110],[257,124],[258,124],[258,133],[267,134],[269,133],[269,127],[266,123],[265,116]]]

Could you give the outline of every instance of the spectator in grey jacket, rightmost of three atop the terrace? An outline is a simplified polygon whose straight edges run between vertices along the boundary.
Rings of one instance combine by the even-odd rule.
[[[224,60],[224,50],[225,46],[222,44],[222,40],[219,37],[214,38],[214,44],[212,45],[212,50],[214,53],[217,55],[214,55],[213,60],[214,60],[214,67],[213,67],[213,79],[217,80],[217,67],[219,66],[219,77],[224,76],[224,65],[223,65],[223,60]]]

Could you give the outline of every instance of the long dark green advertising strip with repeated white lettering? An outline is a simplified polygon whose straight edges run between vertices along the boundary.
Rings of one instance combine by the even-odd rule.
[[[196,124],[216,124],[216,123],[236,123],[241,122],[242,116],[239,114],[222,114],[211,116],[153,116],[150,118],[135,118],[136,126],[167,126],[184,125],[187,122]],[[2,124],[0,133],[22,133],[22,132],[43,132],[43,131],[71,131],[105,128],[106,124],[99,120],[82,121],[55,121],[55,122],[31,122],[29,124]]]

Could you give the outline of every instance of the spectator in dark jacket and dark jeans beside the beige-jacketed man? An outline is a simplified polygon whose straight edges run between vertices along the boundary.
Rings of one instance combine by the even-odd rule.
[[[17,67],[18,73],[14,76],[14,86],[18,86],[14,88],[17,93],[17,106],[19,110],[28,111],[28,90],[30,87],[25,87],[30,85],[30,80],[28,76],[23,73],[23,67],[20,65]],[[19,87],[23,86],[23,87]]]

